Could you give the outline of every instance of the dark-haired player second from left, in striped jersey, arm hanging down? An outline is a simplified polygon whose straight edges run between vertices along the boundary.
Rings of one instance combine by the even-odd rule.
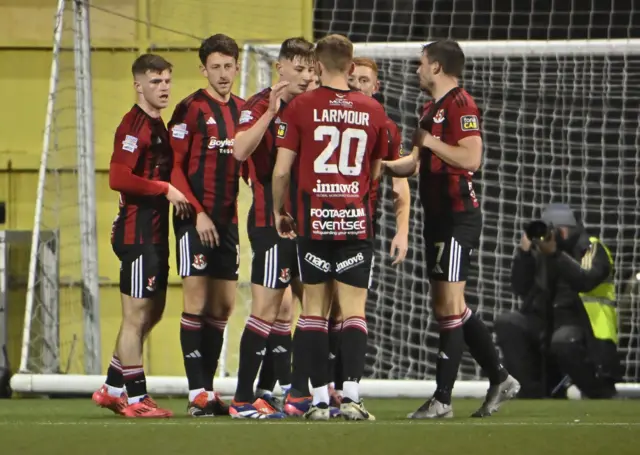
[[[207,87],[182,100],[169,123],[171,182],[194,216],[174,216],[178,273],[184,293],[180,343],[189,383],[188,412],[228,414],[213,392],[224,329],[236,298],[239,268],[237,198],[240,163],[233,158],[244,101],[231,93],[238,72],[237,43],[222,34],[200,46]]]

